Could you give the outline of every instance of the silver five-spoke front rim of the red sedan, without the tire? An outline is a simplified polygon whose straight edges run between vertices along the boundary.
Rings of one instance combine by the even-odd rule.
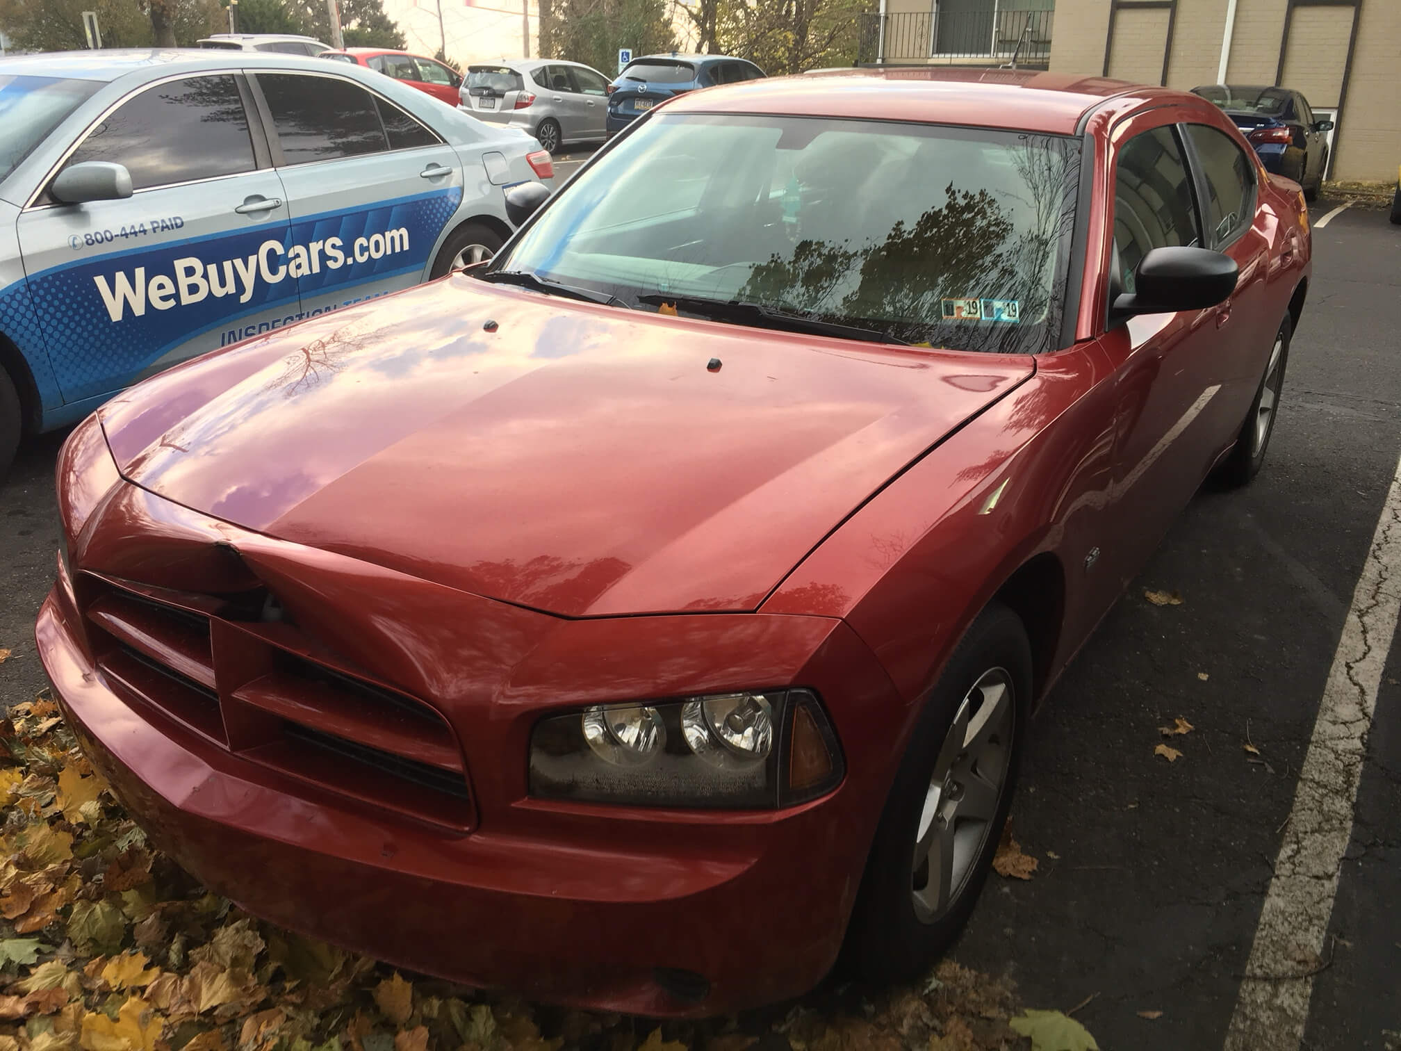
[[[1012,675],[985,671],[939,748],[915,835],[911,894],[932,923],[957,901],[993,827],[1012,760]]]

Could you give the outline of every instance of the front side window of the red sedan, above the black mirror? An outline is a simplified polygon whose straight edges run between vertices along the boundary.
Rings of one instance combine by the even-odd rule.
[[[1168,128],[1136,135],[1119,150],[1114,188],[1114,245],[1119,282],[1133,291],[1133,270],[1153,248],[1196,244],[1191,177]]]

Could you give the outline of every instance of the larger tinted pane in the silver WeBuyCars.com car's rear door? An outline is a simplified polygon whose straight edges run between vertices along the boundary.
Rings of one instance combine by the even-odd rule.
[[[387,147],[374,97],[339,77],[259,73],[287,164],[354,157]]]

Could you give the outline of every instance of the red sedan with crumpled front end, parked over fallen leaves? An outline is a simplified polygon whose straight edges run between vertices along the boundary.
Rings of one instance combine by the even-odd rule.
[[[1037,703],[1261,467],[1299,188],[1195,95],[899,70],[682,95],[545,196],[73,433],[55,692],[191,872],[399,966],[677,1016],[915,974]]]

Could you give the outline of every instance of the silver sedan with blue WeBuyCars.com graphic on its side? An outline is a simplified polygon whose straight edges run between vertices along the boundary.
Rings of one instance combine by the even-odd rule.
[[[254,52],[0,59],[0,474],[206,350],[439,277],[549,156],[371,70]]]

